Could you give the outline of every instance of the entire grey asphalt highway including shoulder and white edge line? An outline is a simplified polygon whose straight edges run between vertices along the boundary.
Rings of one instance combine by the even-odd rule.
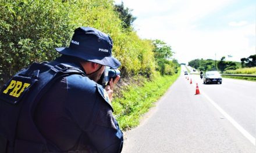
[[[226,78],[203,85],[199,75],[188,81],[182,74],[141,124],[124,133],[122,152],[255,153],[255,87]]]

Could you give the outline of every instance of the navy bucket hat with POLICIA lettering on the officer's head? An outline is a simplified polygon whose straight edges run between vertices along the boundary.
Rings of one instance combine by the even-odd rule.
[[[109,35],[91,27],[79,27],[67,48],[56,48],[59,53],[79,57],[112,68],[118,68],[121,63],[112,56],[113,42]]]

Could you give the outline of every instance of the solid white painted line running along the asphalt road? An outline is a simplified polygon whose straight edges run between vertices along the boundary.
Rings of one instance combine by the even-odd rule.
[[[255,139],[255,137],[253,137],[253,136],[252,136],[250,133],[248,133],[242,126],[240,126],[239,123],[237,123],[236,121],[234,121],[234,119],[233,119],[231,116],[229,116],[229,114],[227,114],[224,110],[222,110],[222,108],[219,107],[219,105],[217,105],[212,99],[210,99],[210,98],[207,96],[207,94],[205,94],[205,93],[202,92],[201,90],[200,90],[200,93],[203,94],[203,95],[209,100],[209,102],[210,102],[212,105],[214,105],[214,107],[215,107],[219,112],[221,112],[221,114],[222,114],[223,116],[225,116],[226,119],[227,119],[230,123],[232,123],[232,125],[233,125],[234,127],[236,127],[237,130],[239,130],[239,132],[241,132],[253,145],[256,145],[256,139]]]

